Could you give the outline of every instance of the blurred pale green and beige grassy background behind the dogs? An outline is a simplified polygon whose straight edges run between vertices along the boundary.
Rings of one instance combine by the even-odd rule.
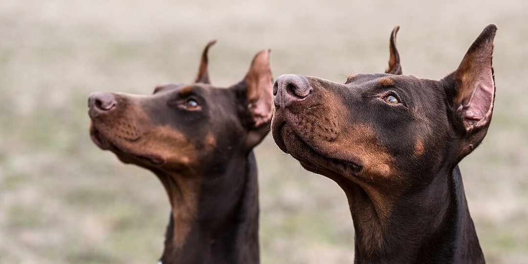
[[[0,263],[155,263],[169,205],[143,168],[88,135],[91,91],[151,93],[191,82],[203,46],[217,86],[240,81],[271,48],[276,78],[344,82],[382,72],[401,25],[403,72],[440,79],[489,23],[495,38],[493,122],[461,162],[489,263],[528,263],[528,2],[2,0]],[[263,263],[352,263],[345,195],[268,136],[256,149]]]

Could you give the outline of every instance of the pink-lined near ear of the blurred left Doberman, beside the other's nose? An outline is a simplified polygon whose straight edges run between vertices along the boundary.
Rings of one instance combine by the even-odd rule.
[[[251,62],[246,77],[235,86],[241,112],[249,130],[246,146],[253,147],[268,134],[273,115],[273,79],[269,68],[270,50],[261,50]]]

